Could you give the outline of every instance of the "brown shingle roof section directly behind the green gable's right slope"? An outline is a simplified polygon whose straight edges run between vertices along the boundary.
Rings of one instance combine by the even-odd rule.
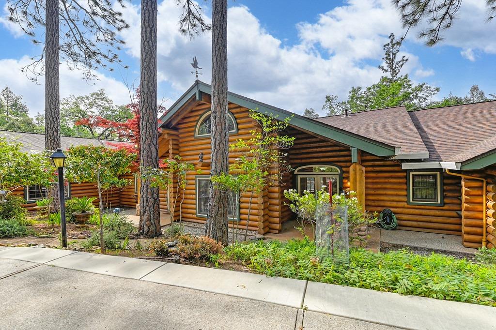
[[[321,117],[315,120],[391,146],[401,147],[400,154],[428,152],[405,107],[351,113],[346,117],[343,115]]]

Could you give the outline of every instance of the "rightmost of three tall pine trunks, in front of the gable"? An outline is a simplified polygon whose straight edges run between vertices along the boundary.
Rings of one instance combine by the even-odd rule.
[[[212,135],[210,175],[229,171],[227,128],[227,0],[212,0]],[[205,235],[228,243],[228,196],[210,183]]]

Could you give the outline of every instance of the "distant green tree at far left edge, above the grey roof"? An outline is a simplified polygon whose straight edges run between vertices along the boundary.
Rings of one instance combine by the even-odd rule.
[[[15,95],[8,86],[0,91],[0,129],[33,132],[35,124],[29,116],[22,96]]]

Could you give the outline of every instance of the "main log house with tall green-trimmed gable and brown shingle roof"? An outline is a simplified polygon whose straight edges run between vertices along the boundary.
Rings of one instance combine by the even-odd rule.
[[[181,211],[187,221],[206,219],[210,94],[211,87],[197,80],[160,119],[159,157],[179,155],[196,167],[186,177]],[[314,190],[330,180],[334,191],[356,191],[366,210],[391,209],[400,229],[461,235],[467,247],[496,245],[496,101],[317,119],[231,92],[228,101],[230,143],[249,139],[257,126],[249,109],[281,119],[294,115],[285,133],[296,137],[287,156],[294,171],[284,176],[284,185],[256,196],[250,209],[248,196],[241,196],[239,207],[230,202],[230,225],[244,227],[249,213],[249,229],[278,233],[294,217],[283,191]],[[230,153],[229,162],[236,157]],[[163,211],[174,189],[161,192]],[[172,211],[179,216],[178,206]]]

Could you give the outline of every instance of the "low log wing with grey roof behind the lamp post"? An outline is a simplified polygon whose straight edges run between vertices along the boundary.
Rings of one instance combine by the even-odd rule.
[[[0,137],[4,137],[7,140],[15,140],[23,144],[22,151],[33,153],[33,152],[43,152],[45,151],[45,134],[40,133],[27,133],[27,132],[17,132],[17,131],[7,131],[0,130]],[[112,143],[127,143],[121,141],[111,141],[102,140],[102,142],[112,148]],[[80,138],[73,136],[61,136],[61,146],[62,150],[66,150],[71,146],[80,145],[101,145],[97,139],[90,138]],[[128,206],[135,207],[137,203],[137,179],[134,174],[128,174],[126,176],[131,180],[131,185],[125,187],[124,189],[107,191],[103,196],[104,205],[108,208],[118,207],[118,206]],[[47,196],[47,191],[45,187],[40,186],[25,186],[18,187],[13,191],[13,194],[21,196],[26,200],[24,207],[28,211],[33,211],[36,206],[36,201],[43,199]],[[71,183],[68,182],[65,186],[65,198],[69,199],[71,197],[95,197],[94,204],[99,203],[98,199],[98,189],[94,183],[83,182],[83,183]]]

